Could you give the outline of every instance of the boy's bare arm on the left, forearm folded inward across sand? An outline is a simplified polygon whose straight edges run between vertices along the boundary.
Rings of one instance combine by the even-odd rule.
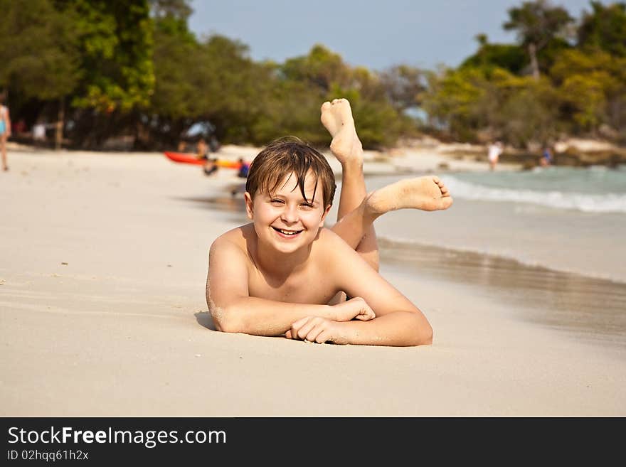
[[[251,297],[248,291],[248,262],[240,247],[218,239],[208,254],[206,303],[218,331],[256,336],[283,336],[292,323],[304,316],[322,316],[336,321],[344,308],[329,305],[292,304]],[[343,315],[346,315],[344,310]]]

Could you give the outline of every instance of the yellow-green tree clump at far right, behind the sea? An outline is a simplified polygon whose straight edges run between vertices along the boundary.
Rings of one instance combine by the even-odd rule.
[[[625,6],[591,5],[575,45],[567,41],[572,18],[562,7],[538,0],[509,9],[504,28],[518,31],[519,44],[490,44],[479,35],[479,50],[459,68],[433,73],[423,96],[430,124],[455,139],[516,146],[563,132],[626,134]],[[533,58],[522,58],[531,43],[543,72],[534,79],[527,66]]]

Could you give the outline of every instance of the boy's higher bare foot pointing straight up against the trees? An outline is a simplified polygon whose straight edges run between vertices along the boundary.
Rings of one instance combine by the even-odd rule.
[[[335,99],[322,104],[322,124],[332,136],[330,150],[344,163],[357,161],[363,163],[363,146],[356,136],[354,119],[350,102],[346,99]]]

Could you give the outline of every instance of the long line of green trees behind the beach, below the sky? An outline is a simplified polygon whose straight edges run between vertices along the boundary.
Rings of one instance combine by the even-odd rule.
[[[368,148],[423,133],[519,147],[563,135],[626,144],[625,3],[590,1],[577,19],[524,1],[503,21],[515,43],[478,34],[457,68],[383,71],[322,44],[257,62],[240,41],[196,37],[187,0],[0,0],[0,11],[12,119],[58,122],[58,144],[97,149],[127,136],[134,149],[163,149],[194,122],[211,122],[225,143],[295,134],[328,144],[319,104],[338,96],[351,101]]]

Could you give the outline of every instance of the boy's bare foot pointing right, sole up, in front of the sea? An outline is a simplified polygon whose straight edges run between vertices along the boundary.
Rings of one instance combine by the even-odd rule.
[[[392,183],[368,195],[366,207],[380,215],[398,209],[435,211],[450,208],[452,196],[439,178],[425,176]]]

